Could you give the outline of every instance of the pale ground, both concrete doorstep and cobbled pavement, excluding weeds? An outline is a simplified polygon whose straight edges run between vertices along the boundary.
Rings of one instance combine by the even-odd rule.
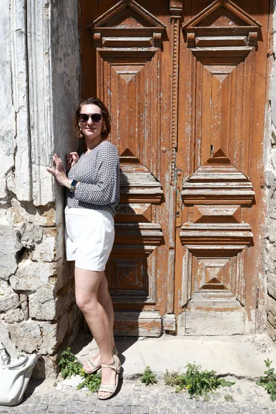
[[[14,414],[276,414],[276,402],[256,384],[264,375],[264,359],[276,365],[275,344],[266,335],[234,337],[116,338],[122,363],[119,387],[107,401],[97,394],[66,385],[59,376],[41,382],[31,380],[26,397],[16,407],[0,406],[0,413]],[[97,352],[90,335],[78,335],[72,352],[83,362]],[[235,385],[218,388],[210,400],[196,401],[188,393],[175,393],[164,384],[166,370],[185,371],[188,363],[215,370]],[[157,384],[141,384],[146,366],[157,374]]]

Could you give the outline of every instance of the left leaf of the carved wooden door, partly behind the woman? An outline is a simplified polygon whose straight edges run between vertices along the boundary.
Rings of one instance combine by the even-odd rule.
[[[175,227],[169,207],[168,2],[81,1],[81,27],[83,95],[99,96],[110,110],[108,139],[121,162],[115,244],[106,268],[115,334],[159,336],[168,306],[168,238]]]

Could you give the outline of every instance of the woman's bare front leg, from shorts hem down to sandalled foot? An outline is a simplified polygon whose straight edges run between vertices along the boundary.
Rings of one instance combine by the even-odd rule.
[[[83,270],[75,268],[76,302],[82,311],[86,322],[99,346],[102,364],[113,364],[112,335],[108,315],[98,301],[98,290],[103,277],[103,272]],[[101,369],[101,382],[103,384],[115,384],[116,373],[109,368]],[[99,396],[104,397],[109,393],[101,391]]]

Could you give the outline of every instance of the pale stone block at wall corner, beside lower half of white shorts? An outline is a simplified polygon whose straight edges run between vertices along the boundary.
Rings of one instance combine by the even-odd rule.
[[[55,262],[57,260],[56,237],[56,227],[44,229],[41,243],[35,244],[34,250],[30,253],[30,259],[35,262]]]

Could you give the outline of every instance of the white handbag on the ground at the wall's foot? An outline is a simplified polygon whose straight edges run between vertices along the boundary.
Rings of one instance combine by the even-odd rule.
[[[17,359],[0,368],[0,405],[19,404],[32,375],[39,355],[19,353]]]

